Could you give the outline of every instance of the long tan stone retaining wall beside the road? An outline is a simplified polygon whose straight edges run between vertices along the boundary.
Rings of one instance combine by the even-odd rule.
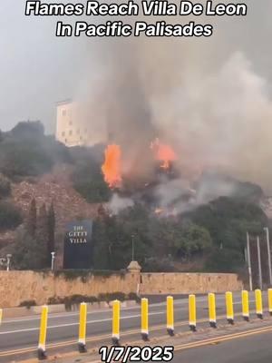
[[[189,294],[240,290],[242,282],[236,274],[224,273],[141,273],[87,276],[65,279],[51,272],[0,271],[0,308],[17,307],[25,300],[37,305],[49,298],[75,294],[98,297],[101,293],[121,291],[141,295]]]

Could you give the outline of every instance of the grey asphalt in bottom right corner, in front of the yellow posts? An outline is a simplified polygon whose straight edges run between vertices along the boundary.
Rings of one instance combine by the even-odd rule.
[[[174,363],[270,363],[272,331],[218,344],[175,350]]]

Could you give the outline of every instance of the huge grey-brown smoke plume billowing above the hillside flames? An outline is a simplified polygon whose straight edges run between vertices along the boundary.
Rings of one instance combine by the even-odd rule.
[[[258,7],[248,1],[251,12],[264,15]],[[156,137],[170,143],[182,182],[162,183],[160,197],[176,198],[177,185],[183,193],[184,182],[205,170],[272,191],[270,84],[257,70],[262,56],[256,61],[252,50],[260,33],[247,44],[255,28],[250,15],[213,25],[209,39],[139,37],[90,46],[95,60],[77,93],[86,123],[100,133],[95,141],[121,145],[123,173],[131,178],[149,175]]]

